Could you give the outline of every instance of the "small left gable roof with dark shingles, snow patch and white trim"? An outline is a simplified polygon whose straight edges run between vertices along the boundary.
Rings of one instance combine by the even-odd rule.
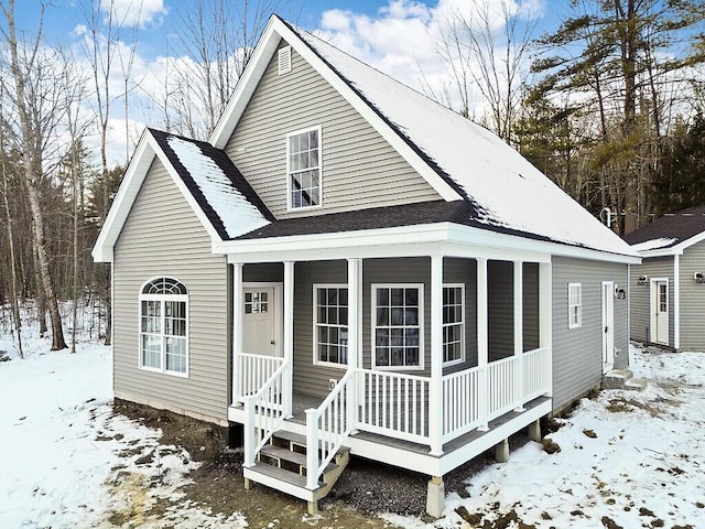
[[[112,248],[155,159],[213,240],[236,238],[274,219],[224,151],[204,141],[148,128],[94,247],[96,261],[112,260]]]

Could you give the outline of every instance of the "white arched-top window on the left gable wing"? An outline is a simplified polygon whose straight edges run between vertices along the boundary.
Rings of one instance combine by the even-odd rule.
[[[140,292],[140,367],[188,373],[186,287],[171,278],[148,282]]]

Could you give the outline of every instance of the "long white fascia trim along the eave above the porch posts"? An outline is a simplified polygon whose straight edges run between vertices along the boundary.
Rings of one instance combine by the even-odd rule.
[[[609,253],[560,242],[498,234],[453,223],[437,223],[395,228],[377,228],[329,234],[295,235],[261,239],[241,239],[214,242],[213,252],[228,255],[232,262],[282,261],[288,257],[316,256],[317,259],[350,257],[358,252],[367,256],[399,255],[404,247],[415,255],[429,255],[429,245],[459,245],[445,248],[446,255],[490,257],[511,255],[517,260],[549,262],[552,256],[574,257],[597,261],[639,264],[640,257]],[[426,245],[426,246],[424,246]],[[463,245],[466,248],[463,248]],[[413,250],[412,248],[417,248]],[[469,248],[469,249],[468,249]],[[403,253],[403,252],[402,252]],[[496,257],[497,258],[497,257]],[[294,259],[295,260],[295,259]]]

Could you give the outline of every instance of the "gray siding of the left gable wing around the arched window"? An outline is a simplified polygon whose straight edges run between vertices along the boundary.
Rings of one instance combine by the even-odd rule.
[[[169,276],[188,289],[188,378],[139,368],[139,293]],[[116,395],[214,422],[227,420],[228,270],[164,166],[155,161],[115,247]]]

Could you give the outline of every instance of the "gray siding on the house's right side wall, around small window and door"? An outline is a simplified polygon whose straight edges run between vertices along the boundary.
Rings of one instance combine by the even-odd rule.
[[[562,409],[603,377],[603,281],[627,284],[627,264],[554,257],[553,407]],[[568,328],[568,283],[582,284],[583,324]],[[615,367],[629,361],[627,300],[615,299]]]

